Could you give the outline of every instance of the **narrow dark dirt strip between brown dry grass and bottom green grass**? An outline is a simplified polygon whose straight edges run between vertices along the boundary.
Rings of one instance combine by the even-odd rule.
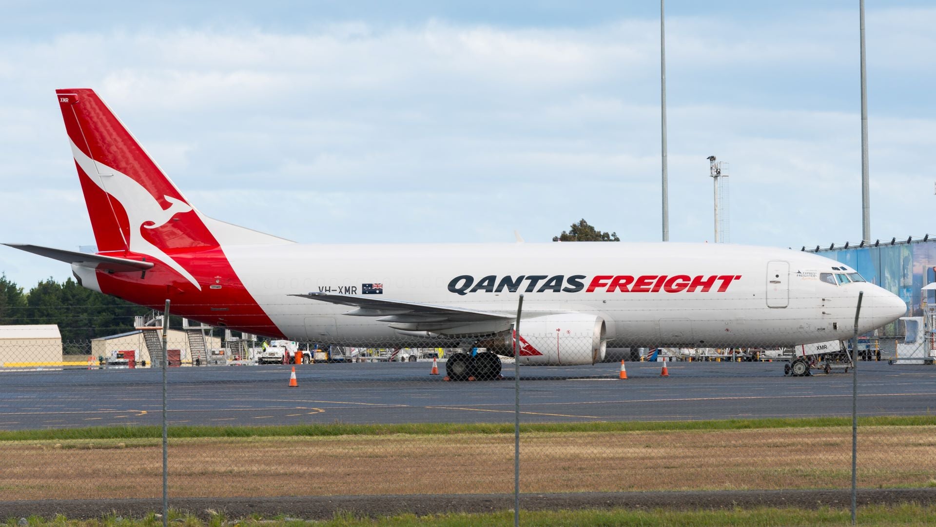
[[[858,504],[936,503],[936,488],[930,489],[859,489]],[[360,516],[388,516],[404,512],[417,515],[446,512],[492,512],[513,509],[512,494],[431,494],[385,496],[310,496],[265,498],[178,498],[169,506],[202,519],[208,510],[224,513],[228,519],[258,514],[265,518],[285,515],[297,519],[330,519],[337,512]],[[579,508],[669,508],[679,510],[752,508],[758,506],[817,508],[848,507],[849,489],[826,490],[713,490],[686,492],[577,492],[523,494],[521,510]],[[141,518],[159,511],[158,499],[124,500],[37,500],[0,502],[0,520],[32,515],[52,518],[63,514],[68,519],[95,519],[115,514]]]

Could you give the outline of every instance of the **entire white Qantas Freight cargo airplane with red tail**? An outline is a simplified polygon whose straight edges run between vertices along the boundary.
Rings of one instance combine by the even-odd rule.
[[[7,244],[71,264],[86,288],[272,338],[483,348],[455,380],[519,361],[580,365],[612,346],[776,347],[897,320],[896,295],[801,251],[723,244],[304,245],[202,214],[91,89],[56,90],[97,252]]]

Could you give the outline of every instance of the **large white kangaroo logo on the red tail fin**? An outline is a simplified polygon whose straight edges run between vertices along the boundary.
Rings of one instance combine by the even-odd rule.
[[[130,222],[130,239],[124,240],[126,247],[134,252],[152,256],[163,264],[167,264],[201,291],[201,286],[198,285],[195,277],[163,252],[161,248],[154,246],[140,234],[140,229],[162,227],[176,214],[192,210],[192,206],[171,196],[163,196],[168,203],[171,203],[168,209],[164,209],[153,197],[153,194],[150,194],[149,190],[143,188],[132,177],[85,156],[84,152],[81,152],[75,143],[71,143],[71,151],[75,156],[75,161],[78,162],[81,170],[88,175],[91,181],[124,206],[126,218]],[[98,167],[107,173],[100,173]]]

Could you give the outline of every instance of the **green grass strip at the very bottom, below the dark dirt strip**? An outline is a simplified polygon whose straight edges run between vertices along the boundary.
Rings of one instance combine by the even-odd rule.
[[[170,512],[172,525],[181,527],[222,527],[242,525],[244,527],[263,526],[280,527],[316,525],[318,527],[398,527],[404,525],[432,525],[439,527],[474,527],[486,525],[492,527],[513,525],[513,513],[510,511],[491,514],[446,514],[429,517],[402,515],[391,518],[358,518],[352,515],[338,515],[329,521],[303,521],[301,519],[227,519],[217,514],[208,521],[195,517],[183,516]],[[869,505],[859,509],[858,525],[936,525],[936,506],[919,504],[899,504],[891,506]],[[560,510],[560,511],[521,511],[520,524],[524,526],[552,525],[639,525],[647,527],[665,527],[675,525],[697,526],[799,526],[799,525],[851,525],[851,516],[847,509],[821,508],[806,510],[797,508],[755,508],[750,510],[700,510],[700,511],[636,511],[627,509],[607,510]],[[145,519],[118,519],[108,517],[95,520],[68,520],[31,518],[30,527],[158,527],[162,520],[155,515]],[[7,519],[8,527],[20,527],[18,519]]]

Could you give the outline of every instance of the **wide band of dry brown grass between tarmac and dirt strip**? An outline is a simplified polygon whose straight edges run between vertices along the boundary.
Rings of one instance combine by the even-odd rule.
[[[863,427],[859,485],[926,486],[936,427]],[[851,429],[527,433],[526,492],[843,488]],[[169,495],[509,492],[512,434],[176,439]],[[0,443],[0,500],[157,497],[159,440]]]

